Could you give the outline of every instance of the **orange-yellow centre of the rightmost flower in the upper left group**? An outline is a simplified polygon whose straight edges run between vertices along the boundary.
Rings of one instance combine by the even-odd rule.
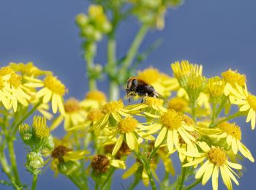
[[[45,87],[49,88],[50,91],[53,91],[55,94],[59,94],[63,96],[66,92],[66,88],[57,77],[53,77],[52,75],[48,75],[44,80]]]

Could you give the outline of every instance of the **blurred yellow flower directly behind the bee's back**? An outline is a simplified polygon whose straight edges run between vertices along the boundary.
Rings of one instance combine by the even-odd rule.
[[[165,97],[170,96],[170,91],[178,86],[175,78],[159,72],[159,70],[153,67],[139,71],[138,78],[145,81],[148,85],[153,86],[158,94]]]

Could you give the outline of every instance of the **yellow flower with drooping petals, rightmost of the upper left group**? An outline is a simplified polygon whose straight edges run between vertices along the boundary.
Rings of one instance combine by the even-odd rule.
[[[42,80],[31,80],[31,82],[26,83],[26,86],[32,88],[43,87],[37,92],[36,97],[42,98],[42,103],[46,104],[51,101],[53,113],[59,112],[64,115],[64,104],[63,104],[63,96],[67,92],[66,87],[57,77],[52,75],[48,75],[45,79]]]

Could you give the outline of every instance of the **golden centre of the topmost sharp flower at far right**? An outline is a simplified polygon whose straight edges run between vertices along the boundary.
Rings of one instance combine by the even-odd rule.
[[[237,83],[239,86],[244,86],[246,83],[245,75],[241,75],[239,72],[233,71],[231,69],[222,72],[222,77],[226,83],[230,83],[232,85]]]

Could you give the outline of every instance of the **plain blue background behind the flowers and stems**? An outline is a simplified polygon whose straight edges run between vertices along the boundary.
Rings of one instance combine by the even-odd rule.
[[[52,70],[69,88],[69,96],[82,99],[88,88],[75,15],[86,12],[87,7],[86,0],[1,0],[0,66],[10,61],[34,61],[39,68]],[[151,31],[146,37],[141,50],[159,38],[163,39],[163,43],[141,69],[151,65],[170,74],[170,63],[181,59],[203,64],[206,76],[219,75],[229,68],[238,69],[246,74],[249,91],[256,94],[255,9],[254,0],[186,1],[178,9],[167,12],[165,30]],[[124,55],[138,26],[137,21],[130,19],[119,28],[118,56]],[[105,41],[99,45],[96,60],[102,64],[106,61],[105,45]],[[104,81],[100,83],[102,90],[105,90],[105,86]],[[238,124],[242,128],[243,142],[256,156],[255,131],[250,130],[245,118],[239,120]],[[58,135],[61,133],[59,131]],[[21,178],[31,183],[31,176],[23,167],[26,152],[19,143]],[[244,160],[244,167],[247,171],[239,180],[240,186],[234,185],[234,189],[256,187],[256,164]],[[118,177],[121,172],[118,174],[113,183],[115,189],[121,187]],[[159,176],[162,176],[161,170]],[[203,186],[198,187],[203,189]],[[211,181],[206,187],[211,188]],[[219,189],[223,187],[219,181]],[[7,188],[0,186],[0,189]],[[53,178],[53,172],[46,170],[44,175],[39,176],[38,189],[74,189],[74,186],[62,176]]]

